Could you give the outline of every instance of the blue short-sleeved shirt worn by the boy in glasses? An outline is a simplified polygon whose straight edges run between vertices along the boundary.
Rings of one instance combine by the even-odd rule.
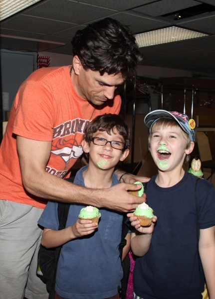
[[[82,167],[74,183],[84,186]],[[120,183],[115,173],[112,185]],[[38,224],[58,230],[57,202],[49,201]],[[66,227],[77,219],[86,205],[71,204]],[[99,209],[101,218],[93,234],[73,239],[63,245],[57,266],[55,291],[68,299],[102,299],[119,293],[123,277],[119,244],[121,242],[122,220],[120,212]]]

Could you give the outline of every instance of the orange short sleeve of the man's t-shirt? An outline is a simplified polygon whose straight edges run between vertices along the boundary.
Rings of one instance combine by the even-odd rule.
[[[13,103],[13,133],[28,139],[52,141],[55,120],[51,90],[39,81],[26,80]]]

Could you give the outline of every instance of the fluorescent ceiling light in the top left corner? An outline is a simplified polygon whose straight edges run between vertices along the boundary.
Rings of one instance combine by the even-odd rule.
[[[40,0],[0,0],[0,21]]]

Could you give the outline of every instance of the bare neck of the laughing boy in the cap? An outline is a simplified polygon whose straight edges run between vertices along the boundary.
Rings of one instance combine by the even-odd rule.
[[[169,188],[176,185],[184,177],[185,170],[180,166],[171,171],[158,170],[158,176],[155,179],[156,184],[162,188]]]

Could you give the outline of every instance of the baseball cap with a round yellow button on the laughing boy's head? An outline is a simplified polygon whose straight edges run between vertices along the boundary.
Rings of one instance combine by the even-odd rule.
[[[170,118],[175,120],[182,130],[190,136],[191,141],[195,142],[196,132],[194,128],[196,127],[196,123],[193,119],[189,120],[186,114],[177,111],[154,110],[147,114],[144,122],[151,130],[152,125],[160,118]]]

